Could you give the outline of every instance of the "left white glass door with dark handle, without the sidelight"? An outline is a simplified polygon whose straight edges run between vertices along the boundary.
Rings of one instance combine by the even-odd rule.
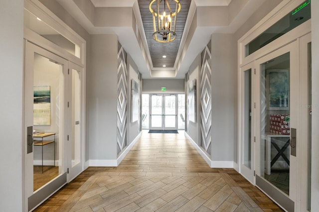
[[[24,179],[32,210],[67,182],[68,61],[25,42]]]

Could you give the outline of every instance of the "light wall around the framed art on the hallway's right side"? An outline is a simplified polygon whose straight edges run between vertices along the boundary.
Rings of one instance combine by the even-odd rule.
[[[196,79],[196,122],[189,121],[187,126],[187,134],[191,139],[200,146],[200,69],[201,69],[200,54],[189,67],[189,82]],[[186,120],[186,119],[185,119]],[[187,120],[186,120],[187,121]]]

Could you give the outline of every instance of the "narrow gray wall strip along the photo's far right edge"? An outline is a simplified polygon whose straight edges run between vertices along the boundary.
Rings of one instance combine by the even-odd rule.
[[[319,209],[319,1],[311,2],[312,15],[312,92],[313,92],[313,125],[312,125],[312,174],[311,174],[311,209]]]

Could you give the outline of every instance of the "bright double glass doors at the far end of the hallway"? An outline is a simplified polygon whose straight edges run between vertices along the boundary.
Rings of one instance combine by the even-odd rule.
[[[150,129],[177,129],[177,95],[151,95]]]

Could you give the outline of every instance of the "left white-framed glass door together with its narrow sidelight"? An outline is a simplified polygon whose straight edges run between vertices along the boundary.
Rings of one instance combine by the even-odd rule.
[[[82,68],[25,41],[24,178],[28,211],[83,170]]]

